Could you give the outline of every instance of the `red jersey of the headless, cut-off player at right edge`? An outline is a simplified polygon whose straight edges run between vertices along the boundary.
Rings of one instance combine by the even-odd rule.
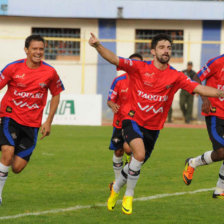
[[[224,54],[210,59],[198,72],[201,81],[206,80],[206,85],[224,91]],[[224,98],[209,97],[211,110],[204,116],[217,116],[224,119]]]

